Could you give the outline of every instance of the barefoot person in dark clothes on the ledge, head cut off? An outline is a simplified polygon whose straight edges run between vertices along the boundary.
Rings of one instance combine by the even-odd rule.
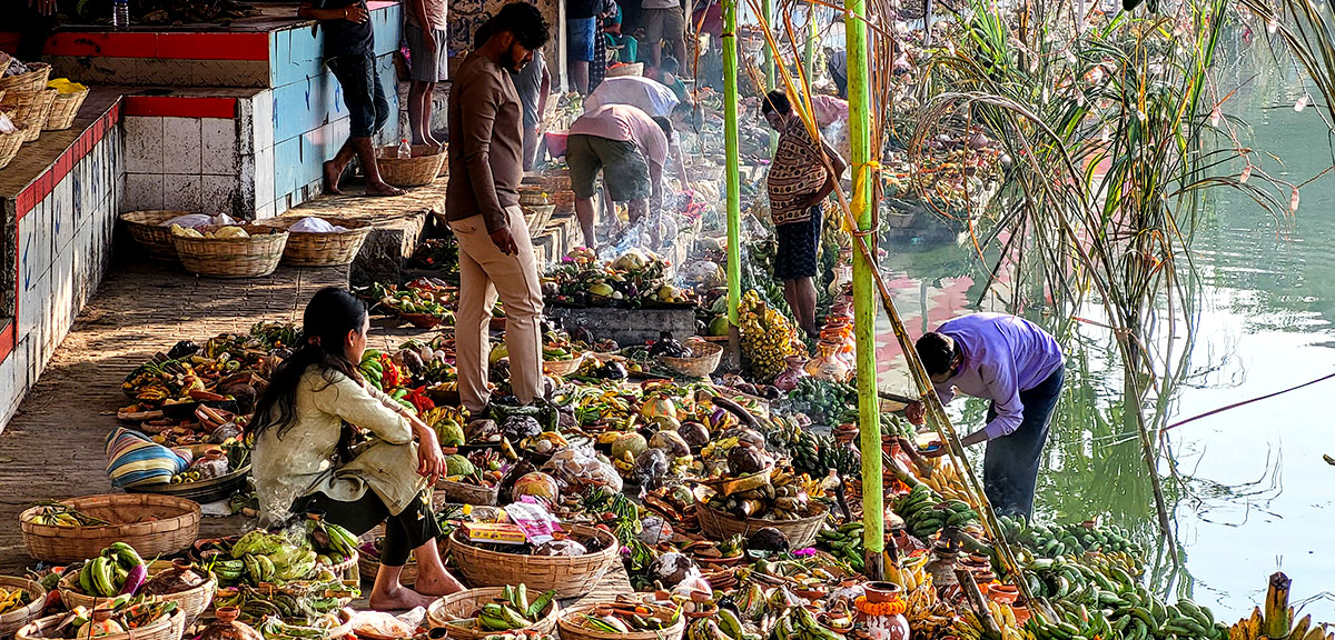
[[[375,33],[366,0],[314,0],[302,3],[296,16],[319,20],[324,31],[324,64],[343,85],[343,104],[348,113],[348,139],[334,160],[324,163],[324,192],[343,193],[338,188],[343,169],[355,155],[366,173],[366,195],[400,196],[402,189],[380,180],[375,164],[378,131],[390,120],[390,101],[384,97],[380,75],[375,71]]]

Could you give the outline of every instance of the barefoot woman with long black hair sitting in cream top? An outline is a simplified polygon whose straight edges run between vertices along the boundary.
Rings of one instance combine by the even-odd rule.
[[[311,297],[303,343],[274,372],[248,427],[255,488],[270,525],[323,512],[360,536],[384,523],[371,608],[411,609],[463,589],[441,561],[426,496],[445,456],[430,427],[358,373],[368,328],[366,305],[348,291],[330,287]],[[410,552],[417,591],[399,583]]]

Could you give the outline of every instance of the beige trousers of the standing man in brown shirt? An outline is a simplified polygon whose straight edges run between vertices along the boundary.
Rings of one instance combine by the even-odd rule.
[[[505,304],[505,345],[510,352],[510,388],[523,404],[542,396],[542,287],[533,256],[529,225],[519,207],[506,209],[519,253],[507,256],[491,241],[481,215],[455,220],[450,229],[459,243],[459,315],[454,340],[459,396],[474,416],[486,408],[490,339],[487,324],[499,295]]]

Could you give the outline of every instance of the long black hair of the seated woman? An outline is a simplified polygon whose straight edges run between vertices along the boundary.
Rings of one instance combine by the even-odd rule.
[[[335,372],[360,383],[358,363],[347,359],[343,341],[350,331],[362,331],[364,321],[366,304],[350,291],[339,287],[316,291],[302,315],[300,348],[274,371],[268,387],[255,403],[255,417],[247,431],[258,436],[278,427],[279,437],[287,435],[296,421],[296,387],[311,367],[322,369],[327,384],[334,383]]]

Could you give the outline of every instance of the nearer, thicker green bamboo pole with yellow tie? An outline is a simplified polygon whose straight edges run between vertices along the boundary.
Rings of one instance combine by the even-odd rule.
[[[853,200],[849,212],[858,240],[874,232],[876,189],[872,184],[872,91],[868,73],[866,3],[845,0],[845,48],[848,51],[848,124],[853,160]],[[878,155],[877,155],[878,156]],[[874,255],[874,253],[873,253]],[[866,575],[880,580],[885,572],[885,503],[881,483],[881,399],[876,393],[876,265],[853,261],[853,332],[857,347],[857,423],[862,447],[862,548]]]

